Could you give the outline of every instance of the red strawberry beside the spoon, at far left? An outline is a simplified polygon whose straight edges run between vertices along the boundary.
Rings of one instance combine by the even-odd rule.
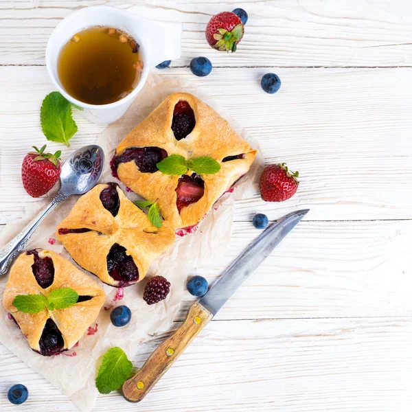
[[[21,165],[21,180],[28,194],[32,197],[43,196],[55,185],[60,176],[61,151],[54,155],[45,153],[46,145],[40,150],[33,146],[36,152],[28,153]]]

